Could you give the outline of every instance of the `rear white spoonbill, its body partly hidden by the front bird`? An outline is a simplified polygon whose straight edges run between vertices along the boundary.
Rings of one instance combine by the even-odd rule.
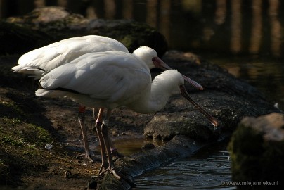
[[[139,56],[141,51],[148,51],[148,47],[143,46],[134,51],[133,55]],[[84,37],[72,37],[69,39],[63,39],[60,42],[49,44],[48,46],[35,49],[22,55],[18,61],[18,65],[11,70],[14,72],[25,73],[39,79],[51,70],[58,68],[60,65],[65,65],[73,61],[75,58],[82,56],[86,53],[92,52],[105,52],[105,51],[122,51],[129,53],[127,48],[115,39],[89,35]],[[155,61],[149,62],[148,68],[161,68],[162,70],[170,70],[169,66],[162,62],[160,58],[155,56]],[[193,84],[194,87],[202,89],[202,86],[197,82],[185,77],[185,80]],[[85,107],[79,106],[78,120],[82,129],[82,137],[84,140],[85,156],[88,160],[91,159],[91,152],[89,150],[89,143],[86,137],[86,127],[84,125],[84,113]],[[98,125],[101,125],[100,120],[96,120]],[[115,147],[112,145],[112,150]]]

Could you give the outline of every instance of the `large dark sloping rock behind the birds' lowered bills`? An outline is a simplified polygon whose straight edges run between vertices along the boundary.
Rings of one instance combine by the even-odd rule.
[[[204,87],[200,91],[186,84],[192,99],[219,120],[219,127],[214,130],[213,125],[191,103],[176,96],[148,122],[144,129],[148,138],[169,140],[181,134],[198,141],[214,141],[222,132],[233,132],[245,116],[282,112],[250,84],[202,58],[169,51],[162,60]]]

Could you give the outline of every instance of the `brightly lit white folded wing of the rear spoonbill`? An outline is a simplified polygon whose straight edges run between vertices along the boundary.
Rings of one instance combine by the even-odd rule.
[[[96,35],[73,37],[25,53],[20,57],[18,66],[15,66],[12,70],[25,72],[24,70],[40,69],[49,72],[60,65],[70,63],[70,61],[85,53],[102,51],[129,53],[127,48],[115,39]],[[30,74],[30,72],[25,73]]]

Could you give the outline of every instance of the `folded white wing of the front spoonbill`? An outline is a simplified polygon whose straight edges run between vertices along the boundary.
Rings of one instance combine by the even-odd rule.
[[[40,80],[44,89],[77,91],[109,103],[136,99],[151,84],[150,70],[129,53],[87,53],[61,65]]]

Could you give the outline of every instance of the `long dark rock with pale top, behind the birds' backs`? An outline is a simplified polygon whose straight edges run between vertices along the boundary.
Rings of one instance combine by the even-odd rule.
[[[9,53],[31,51],[39,47],[37,45],[39,42],[43,43],[42,46],[44,46],[50,44],[50,40],[58,42],[61,39],[90,34],[117,39],[130,52],[139,46],[150,46],[160,56],[167,51],[167,42],[164,36],[153,27],[146,25],[146,23],[138,23],[134,20],[91,20],[84,18],[82,15],[70,13],[62,7],[36,8],[27,15],[8,18],[6,23],[13,24],[13,27],[17,25],[18,30],[13,30],[15,33],[12,34],[1,34],[1,44],[4,39],[8,42],[10,40],[13,42],[13,35],[25,34],[26,36],[25,38],[18,38],[18,43],[16,43],[18,48],[11,48]],[[4,28],[4,30],[9,29],[6,25],[1,28]],[[38,34],[32,34],[34,31]],[[46,36],[49,40],[43,40]],[[26,41],[31,41],[32,43],[26,47],[27,43],[22,43]],[[3,54],[4,50],[1,50],[0,53]]]

